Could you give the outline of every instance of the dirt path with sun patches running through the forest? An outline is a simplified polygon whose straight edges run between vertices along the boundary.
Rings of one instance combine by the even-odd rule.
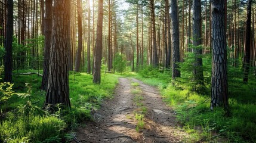
[[[131,86],[131,83],[137,86]],[[132,92],[140,91],[140,105]],[[141,108],[146,108],[143,113]],[[145,111],[145,110],[144,110]],[[143,114],[144,126],[137,132],[135,114]],[[137,79],[120,78],[115,96],[103,101],[94,113],[94,122],[79,128],[76,138],[80,142],[182,142],[186,135],[175,122],[175,114],[162,102],[159,92]]]

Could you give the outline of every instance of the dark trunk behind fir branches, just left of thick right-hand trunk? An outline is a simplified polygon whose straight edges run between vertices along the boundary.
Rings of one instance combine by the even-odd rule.
[[[203,85],[203,62],[202,48],[199,45],[202,44],[202,17],[201,17],[201,1],[193,0],[193,45],[192,52],[195,53],[195,63],[193,69],[193,76],[196,85]]]

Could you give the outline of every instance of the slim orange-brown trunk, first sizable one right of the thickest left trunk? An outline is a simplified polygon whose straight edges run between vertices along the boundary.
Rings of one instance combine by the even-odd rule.
[[[81,0],[77,0],[76,2],[78,7],[78,51],[76,52],[76,67],[75,71],[80,72],[81,69],[81,57],[82,57],[82,7],[81,7]]]

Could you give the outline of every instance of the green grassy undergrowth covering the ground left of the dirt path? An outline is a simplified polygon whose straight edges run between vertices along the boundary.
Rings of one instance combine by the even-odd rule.
[[[19,73],[26,73],[19,71]],[[64,142],[68,131],[79,123],[91,120],[91,111],[97,110],[103,98],[111,98],[118,83],[115,74],[103,74],[101,84],[92,83],[92,75],[69,73],[71,109],[54,112],[42,110],[45,92],[40,90],[41,76],[17,75],[14,84],[1,83],[0,142]]]

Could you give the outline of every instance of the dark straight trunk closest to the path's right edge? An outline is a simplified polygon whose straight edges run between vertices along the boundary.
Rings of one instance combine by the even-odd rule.
[[[180,62],[180,41],[178,32],[177,0],[171,0],[171,26],[172,26],[172,79],[180,77],[177,62]]]

